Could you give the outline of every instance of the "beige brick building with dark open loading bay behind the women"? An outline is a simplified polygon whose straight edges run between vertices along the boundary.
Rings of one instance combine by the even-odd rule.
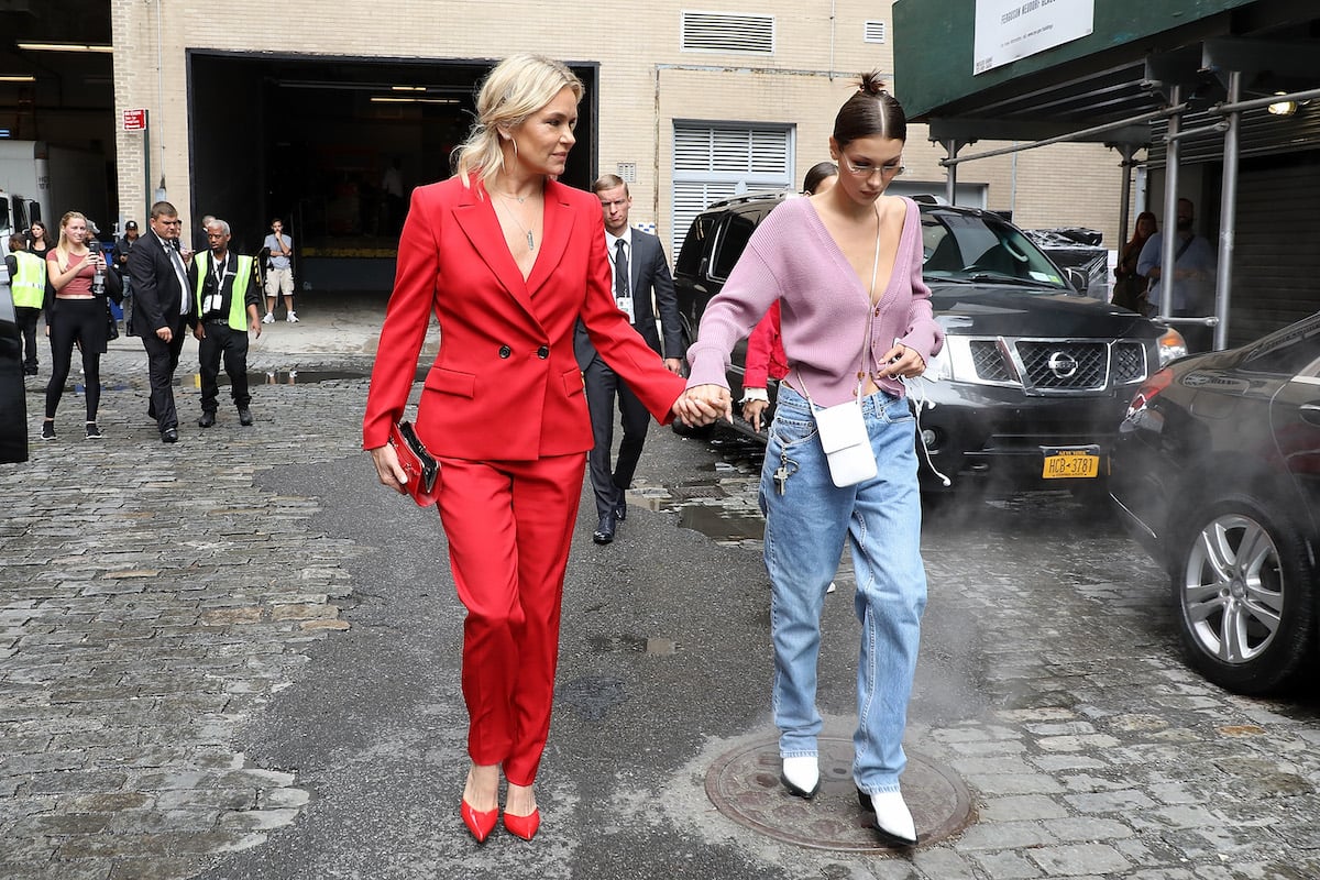
[[[894,70],[890,3],[711,5],[112,0],[116,115],[149,119],[116,132],[120,216],[165,197],[193,226],[226,216],[247,243],[280,215],[308,249],[305,284],[378,284],[395,232],[384,170],[397,162],[409,187],[447,175],[482,75],[537,51],[587,84],[568,182],[620,174],[672,260],[709,202],[800,186],[829,158],[857,75]],[[904,83],[892,91],[902,102]],[[944,157],[913,125],[895,189],[942,195]],[[960,173],[958,201],[1026,227],[1097,228],[1114,248],[1118,161],[1100,145],[987,160]]]

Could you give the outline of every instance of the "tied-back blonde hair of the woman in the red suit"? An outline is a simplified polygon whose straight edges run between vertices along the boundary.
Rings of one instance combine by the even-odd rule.
[[[564,63],[545,55],[516,54],[495,65],[477,95],[477,123],[454,150],[454,173],[470,186],[477,174],[484,185],[504,169],[500,131],[517,128],[527,117],[570,88],[582,100],[586,87]]]

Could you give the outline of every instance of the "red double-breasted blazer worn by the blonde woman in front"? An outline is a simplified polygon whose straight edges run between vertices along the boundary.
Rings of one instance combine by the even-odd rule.
[[[545,185],[545,223],[527,281],[504,245],[491,197],[475,179],[413,190],[395,290],[371,373],[363,449],[384,446],[412,391],[432,313],[440,352],[416,427],[436,455],[531,460],[593,446],[573,354],[581,317],[591,343],[661,422],[685,381],[628,325],[610,293],[595,195]]]

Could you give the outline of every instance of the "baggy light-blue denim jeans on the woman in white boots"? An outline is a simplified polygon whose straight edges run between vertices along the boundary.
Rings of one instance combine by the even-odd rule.
[[[906,400],[884,392],[866,397],[862,410],[878,474],[838,488],[830,482],[810,405],[781,383],[760,475],[760,508],[772,587],[779,752],[817,755],[821,606],[846,540],[862,623],[853,777],[863,792],[875,793],[896,792],[907,764],[903,730],[925,610],[925,570],[915,420]],[[775,482],[780,467],[787,474],[783,495]]]

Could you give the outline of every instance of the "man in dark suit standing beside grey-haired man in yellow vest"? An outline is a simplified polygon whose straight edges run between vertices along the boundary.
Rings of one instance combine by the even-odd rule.
[[[193,252],[180,251],[181,222],[169,202],[152,206],[150,227],[152,231],[141,236],[128,253],[128,277],[136,301],[132,332],[143,338],[147,350],[147,371],[152,383],[152,402],[147,414],[156,420],[161,442],[176,443],[174,368],[183,350],[185,330],[191,323],[187,261]]]

